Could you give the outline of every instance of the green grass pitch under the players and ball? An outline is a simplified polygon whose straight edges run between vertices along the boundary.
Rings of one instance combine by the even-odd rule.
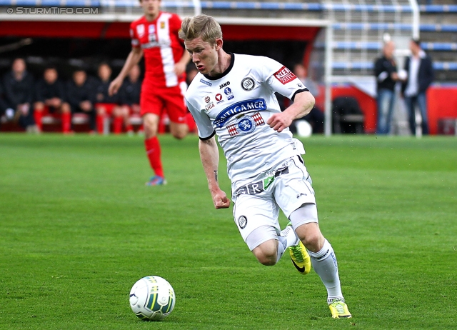
[[[456,138],[304,140],[339,320],[316,273],[258,264],[214,209],[198,138],[160,141],[169,184],[146,187],[138,136],[0,135],[0,329],[457,329]],[[129,307],[146,275],[176,291],[164,321]]]

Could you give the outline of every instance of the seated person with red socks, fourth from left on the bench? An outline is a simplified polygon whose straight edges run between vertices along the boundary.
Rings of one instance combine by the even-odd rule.
[[[106,117],[113,116],[113,130],[114,134],[120,134],[122,131],[122,124],[125,121],[122,116],[122,109],[119,106],[119,96],[114,94],[109,96],[108,89],[111,84],[111,68],[106,63],[101,63],[98,70],[99,82],[96,87],[96,114],[97,114],[97,131],[99,134],[104,132],[104,121]],[[128,118],[127,118],[128,120]]]

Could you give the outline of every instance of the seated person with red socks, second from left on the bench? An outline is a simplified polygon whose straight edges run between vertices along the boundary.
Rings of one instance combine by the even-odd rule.
[[[39,131],[42,131],[44,114],[60,114],[62,131],[69,134],[71,129],[71,109],[65,103],[64,85],[59,80],[57,69],[49,66],[44,70],[43,78],[35,85],[34,118]]]

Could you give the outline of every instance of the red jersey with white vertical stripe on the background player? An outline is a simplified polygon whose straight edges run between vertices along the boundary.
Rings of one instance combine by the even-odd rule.
[[[176,76],[174,65],[184,54],[184,45],[178,37],[181,19],[176,14],[161,11],[154,21],[145,16],[130,24],[131,46],[144,52],[146,84],[161,87],[178,86],[185,81],[184,74]]]

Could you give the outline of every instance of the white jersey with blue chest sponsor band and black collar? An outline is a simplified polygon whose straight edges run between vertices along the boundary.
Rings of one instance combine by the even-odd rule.
[[[217,79],[197,74],[186,91],[200,139],[218,136],[232,182],[245,181],[299,154],[289,129],[281,133],[266,121],[281,112],[274,92],[293,99],[306,91],[285,66],[264,56],[231,54]]]

